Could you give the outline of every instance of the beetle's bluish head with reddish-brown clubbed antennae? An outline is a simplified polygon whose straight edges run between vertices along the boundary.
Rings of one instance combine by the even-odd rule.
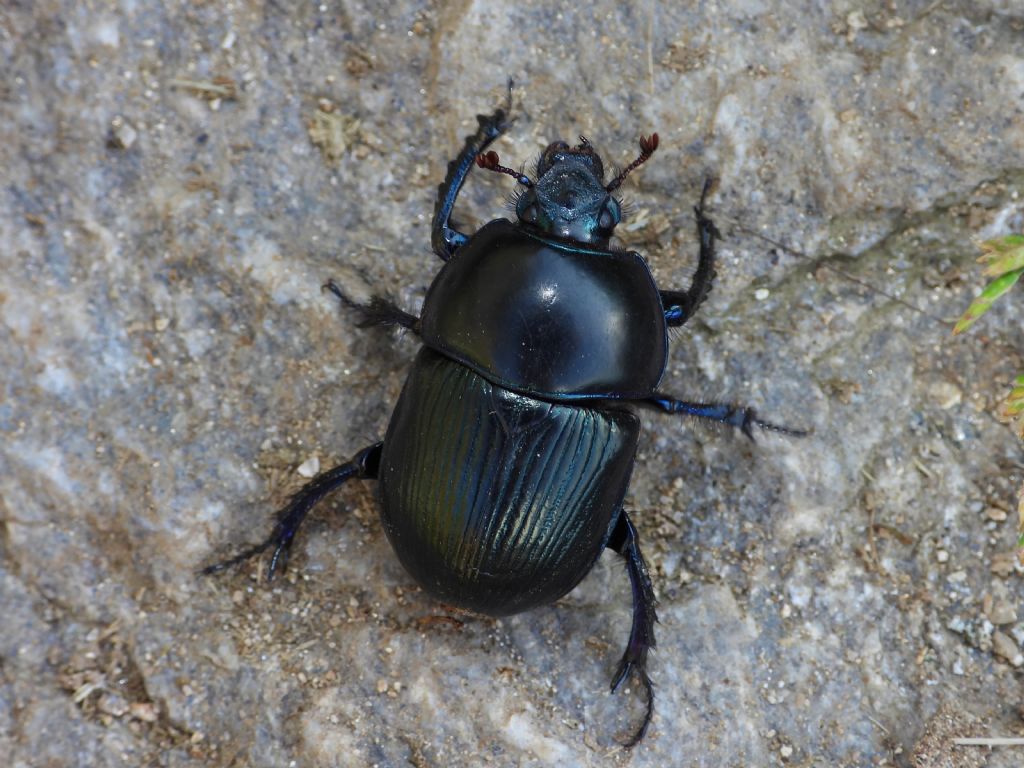
[[[481,168],[515,177],[526,187],[516,200],[516,215],[525,226],[575,243],[605,247],[623,218],[622,206],[612,190],[656,148],[656,133],[641,137],[640,157],[608,184],[603,181],[601,157],[584,136],[575,146],[565,141],[548,144],[537,163],[537,181],[499,165],[494,152],[478,156],[476,162]]]

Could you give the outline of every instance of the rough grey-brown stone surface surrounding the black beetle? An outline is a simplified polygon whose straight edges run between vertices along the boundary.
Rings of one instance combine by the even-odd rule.
[[[946,321],[972,240],[1024,229],[1022,36],[1016,0],[4,3],[4,763],[907,766],[944,702],[1019,735],[1024,590],[989,511],[1021,445],[989,414],[1021,299]],[[506,163],[583,133],[622,164],[660,133],[623,233],[664,286],[720,178],[718,283],[665,389],[814,429],[644,417],[629,505],[662,623],[632,753],[610,555],[550,608],[460,615],[366,483],[271,587],[196,575],[300,464],[383,434],[416,341],[318,287],[418,307],[435,186],[509,76]],[[474,174],[461,219],[511,187]]]

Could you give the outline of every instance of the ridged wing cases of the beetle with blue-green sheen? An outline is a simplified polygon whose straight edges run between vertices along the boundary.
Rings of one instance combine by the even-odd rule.
[[[639,433],[625,407],[516,394],[423,349],[384,438],[384,529],[440,600],[492,615],[549,603],[604,549]]]

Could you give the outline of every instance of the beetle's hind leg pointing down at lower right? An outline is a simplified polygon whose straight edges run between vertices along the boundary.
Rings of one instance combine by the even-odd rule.
[[[626,652],[618,663],[615,677],[611,681],[611,690],[615,691],[631,672],[636,672],[647,697],[647,710],[643,722],[634,732],[625,746],[634,746],[643,738],[654,714],[654,686],[647,677],[647,651],[654,647],[654,588],[650,584],[647,563],[640,553],[637,543],[637,530],[633,527],[626,510],[621,510],[615,527],[608,540],[608,548],[613,549],[626,558],[626,568],[630,573],[630,586],[633,588],[633,629],[630,631],[630,641]]]

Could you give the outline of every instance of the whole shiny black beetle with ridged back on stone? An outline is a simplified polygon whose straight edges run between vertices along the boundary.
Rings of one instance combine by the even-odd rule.
[[[654,153],[656,133],[641,137],[639,157],[607,183],[584,137],[575,146],[549,144],[530,179],[486,152],[506,129],[508,110],[477,120],[437,190],[431,245],[445,264],[422,316],[382,298],[358,304],[333,282],[326,286],[361,314],[360,327],[397,325],[423,340],[384,440],[313,478],[266,541],[204,572],[272,549],[272,578],[306,514],[352,478],[380,481],[384,530],[423,589],[480,613],[557,600],[610,548],[625,558],[633,591],[633,625],[611,689],[635,674],[646,697],[632,746],[653,714],[646,665],[656,616],[623,509],[640,434],[631,407],[710,419],[749,437],[755,427],[803,433],[750,408],[657,391],[669,327],[693,315],[715,278],[720,236],[705,210],[710,180],[695,208],[700,255],[692,283],[659,291],[638,253],[608,245],[622,219],[611,193]],[[518,221],[497,219],[473,234],[451,225],[474,164],[523,187]]]

